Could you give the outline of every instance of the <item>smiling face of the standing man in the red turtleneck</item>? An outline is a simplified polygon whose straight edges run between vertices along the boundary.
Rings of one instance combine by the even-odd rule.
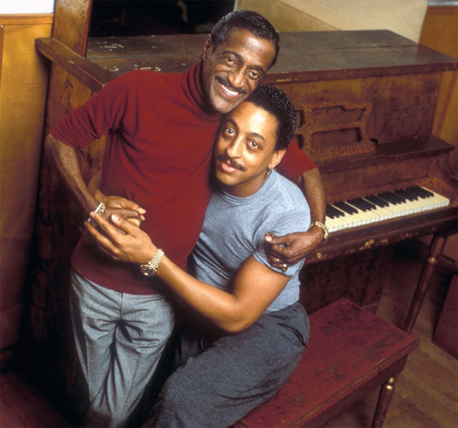
[[[229,113],[260,84],[275,57],[274,43],[236,28],[220,46],[207,39],[202,83],[211,108]]]

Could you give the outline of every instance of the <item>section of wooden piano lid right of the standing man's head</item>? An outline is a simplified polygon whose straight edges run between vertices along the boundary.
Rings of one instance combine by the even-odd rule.
[[[457,60],[390,30],[285,32],[275,82],[456,70]],[[272,83],[274,82],[272,81]]]

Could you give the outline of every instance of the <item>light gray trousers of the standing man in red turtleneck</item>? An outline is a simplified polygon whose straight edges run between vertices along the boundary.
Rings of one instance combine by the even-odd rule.
[[[106,289],[72,273],[73,332],[88,387],[86,427],[124,427],[173,329],[161,295]]]

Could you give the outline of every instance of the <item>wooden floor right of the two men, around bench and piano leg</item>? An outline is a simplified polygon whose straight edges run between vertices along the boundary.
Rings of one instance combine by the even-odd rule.
[[[421,272],[425,253],[408,246],[398,246],[384,284],[377,315],[397,327],[403,327]],[[458,361],[431,342],[448,289],[447,273],[435,273],[432,286],[412,329],[421,340],[413,351],[397,385],[383,428],[457,428],[458,427]],[[356,402],[325,427],[369,427],[378,391]]]

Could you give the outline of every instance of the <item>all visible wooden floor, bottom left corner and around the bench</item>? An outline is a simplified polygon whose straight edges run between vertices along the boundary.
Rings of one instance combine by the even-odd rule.
[[[403,325],[424,256],[403,245],[394,253],[378,315],[398,327]],[[458,362],[431,341],[449,279],[446,273],[439,272],[432,280],[412,331],[422,343],[410,354],[399,376],[384,428],[458,427]],[[373,391],[325,427],[370,426],[377,396],[378,391]],[[0,373],[0,428],[71,426],[21,373]]]

